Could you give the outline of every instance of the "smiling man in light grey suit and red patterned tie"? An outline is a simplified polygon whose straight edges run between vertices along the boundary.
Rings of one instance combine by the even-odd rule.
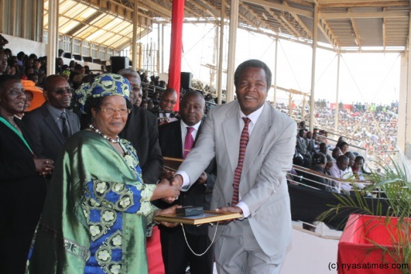
[[[238,100],[210,110],[197,145],[171,184],[184,191],[215,156],[211,208],[242,214],[217,228],[217,271],[278,273],[292,231],[286,171],[292,167],[297,125],[266,103],[271,71],[264,62],[240,64],[234,85]]]

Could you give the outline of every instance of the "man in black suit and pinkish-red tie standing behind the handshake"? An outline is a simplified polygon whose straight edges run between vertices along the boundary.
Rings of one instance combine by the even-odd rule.
[[[172,158],[186,158],[197,136],[201,134],[201,124],[204,115],[205,101],[203,95],[197,91],[189,91],[184,95],[180,103],[181,120],[167,123],[159,127],[159,142],[162,155]],[[190,135],[188,135],[190,134]],[[212,188],[216,175],[214,173],[214,161],[206,171],[201,173],[197,182],[190,190],[181,192],[182,195],[176,201],[182,206],[201,206],[210,210]],[[174,174],[173,174],[174,175]],[[173,176],[171,175],[171,176]],[[184,226],[188,245],[195,253],[203,253],[210,245],[208,238],[208,225],[195,227]],[[195,256],[186,245],[182,227],[160,226],[162,255],[167,274],[185,273],[187,264],[190,264],[190,273],[212,273],[213,258],[212,249],[203,256]]]

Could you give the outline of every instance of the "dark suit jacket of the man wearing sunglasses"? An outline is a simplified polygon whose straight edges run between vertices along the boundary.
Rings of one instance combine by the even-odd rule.
[[[75,134],[80,130],[79,117],[71,110],[66,110],[66,114],[71,134]],[[23,123],[34,154],[38,158],[49,158],[55,161],[66,139],[47,109],[46,103],[25,114]]]

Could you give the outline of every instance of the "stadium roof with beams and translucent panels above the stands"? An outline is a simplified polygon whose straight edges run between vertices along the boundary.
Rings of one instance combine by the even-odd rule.
[[[45,0],[45,28],[49,0]],[[171,21],[172,0],[60,0],[59,32],[114,49],[132,42],[134,3],[138,36],[153,23]],[[230,0],[225,1],[229,18]],[[318,41],[335,51],[405,51],[410,33],[409,0],[240,0],[238,27],[312,43],[318,7]],[[186,0],[186,22],[219,23],[221,0]]]

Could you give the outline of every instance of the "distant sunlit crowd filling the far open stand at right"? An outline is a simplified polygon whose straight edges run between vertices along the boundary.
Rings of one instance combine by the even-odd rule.
[[[288,105],[278,103],[277,108],[288,114]],[[292,116],[297,120],[308,119],[310,110],[296,105]],[[390,162],[397,151],[398,102],[390,105],[375,103],[352,103],[338,108],[337,132],[334,132],[335,108],[325,100],[315,102],[314,127],[320,134],[331,138],[345,136],[349,144],[366,149],[367,162]]]

